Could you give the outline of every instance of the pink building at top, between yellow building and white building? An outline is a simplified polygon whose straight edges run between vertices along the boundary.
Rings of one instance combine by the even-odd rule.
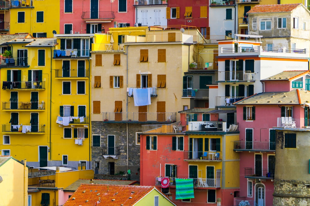
[[[108,32],[134,26],[134,0],[60,0],[60,34]]]

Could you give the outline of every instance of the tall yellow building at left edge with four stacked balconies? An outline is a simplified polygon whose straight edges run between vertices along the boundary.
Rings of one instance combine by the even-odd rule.
[[[48,97],[55,43],[51,38],[15,38],[7,41],[10,57],[1,61],[0,149],[2,155],[27,158],[33,167],[51,160]]]

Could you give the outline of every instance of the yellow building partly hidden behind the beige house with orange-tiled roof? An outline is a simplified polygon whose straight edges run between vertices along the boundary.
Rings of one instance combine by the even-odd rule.
[[[284,1],[283,1],[284,2]],[[292,3],[291,0],[287,2]],[[256,5],[271,5],[277,4],[278,0],[268,0],[268,1],[250,1],[250,0],[236,0],[237,7],[238,7],[238,32],[237,34],[248,34],[248,25],[249,19],[246,12],[250,11]],[[281,0],[281,4],[282,0]]]

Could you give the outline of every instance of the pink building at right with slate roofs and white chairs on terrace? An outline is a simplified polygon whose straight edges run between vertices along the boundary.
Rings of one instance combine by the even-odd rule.
[[[240,197],[234,205],[272,205],[275,174],[276,130],[309,125],[309,71],[284,71],[263,79],[266,92],[235,103],[240,140]],[[290,119],[291,118],[291,119]],[[277,171],[279,172],[279,171]],[[255,204],[256,203],[256,204]]]

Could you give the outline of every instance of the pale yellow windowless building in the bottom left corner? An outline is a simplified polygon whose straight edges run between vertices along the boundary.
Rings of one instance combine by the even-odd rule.
[[[29,205],[27,186],[28,167],[26,162],[19,162],[11,156],[0,156],[1,204],[6,206]]]

